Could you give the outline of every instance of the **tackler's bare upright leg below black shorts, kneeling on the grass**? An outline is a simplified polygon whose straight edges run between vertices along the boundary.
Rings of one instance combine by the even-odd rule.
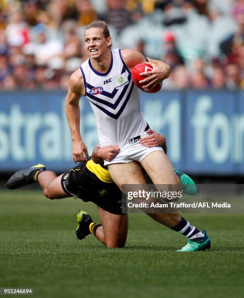
[[[107,247],[124,247],[128,232],[128,214],[112,214],[98,207]]]

